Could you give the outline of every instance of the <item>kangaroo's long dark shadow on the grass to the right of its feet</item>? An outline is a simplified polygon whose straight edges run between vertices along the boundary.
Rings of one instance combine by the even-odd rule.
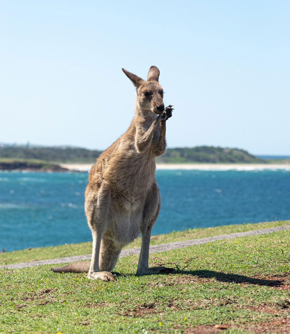
[[[211,270],[183,271],[182,274],[198,276],[199,278],[215,278],[219,282],[226,282],[226,283],[232,283],[232,282],[247,283],[255,285],[264,285],[269,287],[277,287],[283,284],[282,280],[280,281],[280,280],[259,279],[244,275],[219,273]]]

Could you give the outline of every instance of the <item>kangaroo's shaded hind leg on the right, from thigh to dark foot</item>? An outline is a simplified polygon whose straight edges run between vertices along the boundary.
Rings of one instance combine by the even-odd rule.
[[[149,243],[151,229],[157,219],[160,211],[161,198],[159,189],[155,183],[147,196],[147,200],[143,211],[143,222],[141,225],[142,244],[139,257],[138,269],[136,275],[146,274],[175,274],[173,268],[151,267],[148,266],[149,259]]]

